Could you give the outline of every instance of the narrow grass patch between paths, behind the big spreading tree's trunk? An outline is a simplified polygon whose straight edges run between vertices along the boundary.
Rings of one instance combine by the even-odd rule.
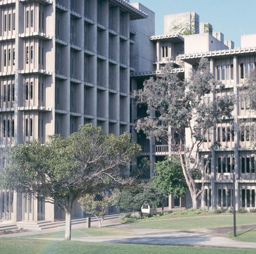
[[[120,235],[132,235],[131,230],[115,228],[115,227],[91,227],[91,228],[74,228],[71,231],[71,238],[73,237],[98,237],[98,236],[120,236]],[[64,238],[65,231],[52,232],[47,234],[39,234],[28,236],[29,238]]]

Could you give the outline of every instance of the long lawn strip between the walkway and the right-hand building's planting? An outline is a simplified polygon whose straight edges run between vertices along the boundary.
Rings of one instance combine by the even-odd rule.
[[[256,214],[237,214],[237,225],[250,225],[256,222]],[[150,220],[132,223],[134,226],[157,229],[195,229],[222,227],[233,225],[233,215],[200,216],[193,218],[176,218],[165,220]]]

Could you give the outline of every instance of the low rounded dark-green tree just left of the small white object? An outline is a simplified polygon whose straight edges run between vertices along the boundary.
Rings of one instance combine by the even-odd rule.
[[[132,210],[142,217],[143,204],[157,206],[164,198],[164,193],[152,183],[137,183],[120,193],[116,205],[125,210]]]

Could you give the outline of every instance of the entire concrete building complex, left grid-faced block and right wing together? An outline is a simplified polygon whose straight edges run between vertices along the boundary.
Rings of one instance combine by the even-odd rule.
[[[135,121],[145,116],[146,108],[136,108],[130,93],[161,73],[169,61],[184,79],[201,57],[207,57],[215,78],[225,83],[226,94],[239,97],[238,88],[256,62],[255,35],[242,36],[242,48],[234,49],[232,41],[224,40],[209,23],[200,23],[194,12],[166,15],[163,35],[155,35],[153,11],[123,0],[4,0],[0,17],[2,147],[36,138],[45,142],[55,133],[68,136],[79,125],[93,123],[116,135],[131,131],[142,156],[155,163],[171,149],[164,140],[136,133]],[[237,103],[233,118],[216,126],[200,150],[203,168],[209,145],[214,140],[222,144],[210,169],[202,172],[202,207],[231,207],[232,179],[224,174],[231,169],[237,172],[237,207],[255,206],[255,153],[248,134],[255,112],[246,103]],[[239,119],[245,118],[251,121],[239,132]],[[154,166],[144,177],[153,171]],[[169,206],[174,204],[170,197]],[[189,207],[189,198],[176,200],[176,205]],[[75,203],[73,217],[82,216]],[[57,206],[0,191],[0,219],[62,217]]]

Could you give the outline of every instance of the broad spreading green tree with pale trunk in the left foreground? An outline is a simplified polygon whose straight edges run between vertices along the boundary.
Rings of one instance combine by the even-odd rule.
[[[87,124],[66,138],[49,136],[44,145],[33,141],[9,147],[1,185],[60,206],[66,212],[65,240],[70,240],[74,200],[130,183],[127,164],[139,153],[129,133],[105,134],[101,127]]]

